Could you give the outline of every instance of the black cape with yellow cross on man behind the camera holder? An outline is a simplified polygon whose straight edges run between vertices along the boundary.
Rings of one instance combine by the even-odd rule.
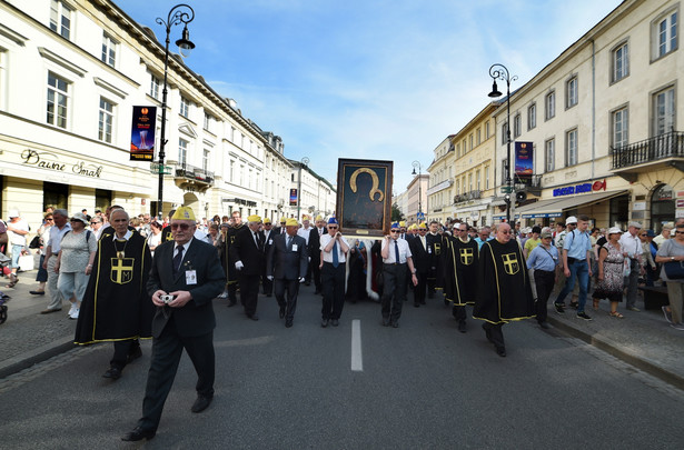
[[[132,233],[119,260],[112,236],[103,233],[98,241],[76,326],[79,344],[152,337],[156,308],[146,290],[152,262],[147,240]]]

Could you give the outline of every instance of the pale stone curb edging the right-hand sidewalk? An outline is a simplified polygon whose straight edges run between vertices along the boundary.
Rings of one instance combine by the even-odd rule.
[[[621,359],[637,369],[643,370],[644,372],[652,374],[653,377],[658,378],[662,381],[665,381],[668,384],[676,387],[677,389],[684,390],[684,377],[671,372],[670,370],[663,369],[658,364],[651,362],[642,357],[637,357],[630,351],[622,349],[616,342],[613,342],[608,339],[596,338],[583,330],[579,330],[571,324],[568,324],[564,320],[558,320],[554,317],[548,317],[546,319],[549,323],[552,323],[558,330],[583,340],[589,346],[594,346],[597,349],[605,351],[608,354],[614,356],[617,359]]]

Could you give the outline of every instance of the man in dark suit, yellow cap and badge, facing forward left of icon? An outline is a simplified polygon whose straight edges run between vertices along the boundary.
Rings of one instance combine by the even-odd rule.
[[[306,241],[303,237],[297,236],[297,220],[288,219],[287,234],[278,234],[274,238],[274,244],[266,258],[266,277],[274,281],[276,300],[280,307],[280,319],[285,318],[287,328],[293,326],[299,283],[305,280],[308,268]],[[285,291],[287,291],[287,302]]]

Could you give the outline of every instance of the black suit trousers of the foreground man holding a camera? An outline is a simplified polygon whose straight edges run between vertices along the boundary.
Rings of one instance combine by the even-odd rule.
[[[195,386],[197,394],[214,396],[214,332],[184,338],[176,332],[174,318],[171,318],[161,336],[152,342],[152,360],[145,388],[142,418],[138,421],[138,427],[145,430],[156,430],[159,426],[163,403],[174,384],[184,348],[197,372],[197,384]]]

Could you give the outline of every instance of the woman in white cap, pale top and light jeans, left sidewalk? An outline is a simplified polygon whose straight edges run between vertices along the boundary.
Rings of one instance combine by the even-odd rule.
[[[77,212],[70,223],[71,231],[67,231],[60,242],[54,271],[59,272],[57,288],[62,293],[62,298],[71,302],[67,316],[76,320],[92,271],[98,243],[92,231],[86,230],[88,226],[86,214]]]

